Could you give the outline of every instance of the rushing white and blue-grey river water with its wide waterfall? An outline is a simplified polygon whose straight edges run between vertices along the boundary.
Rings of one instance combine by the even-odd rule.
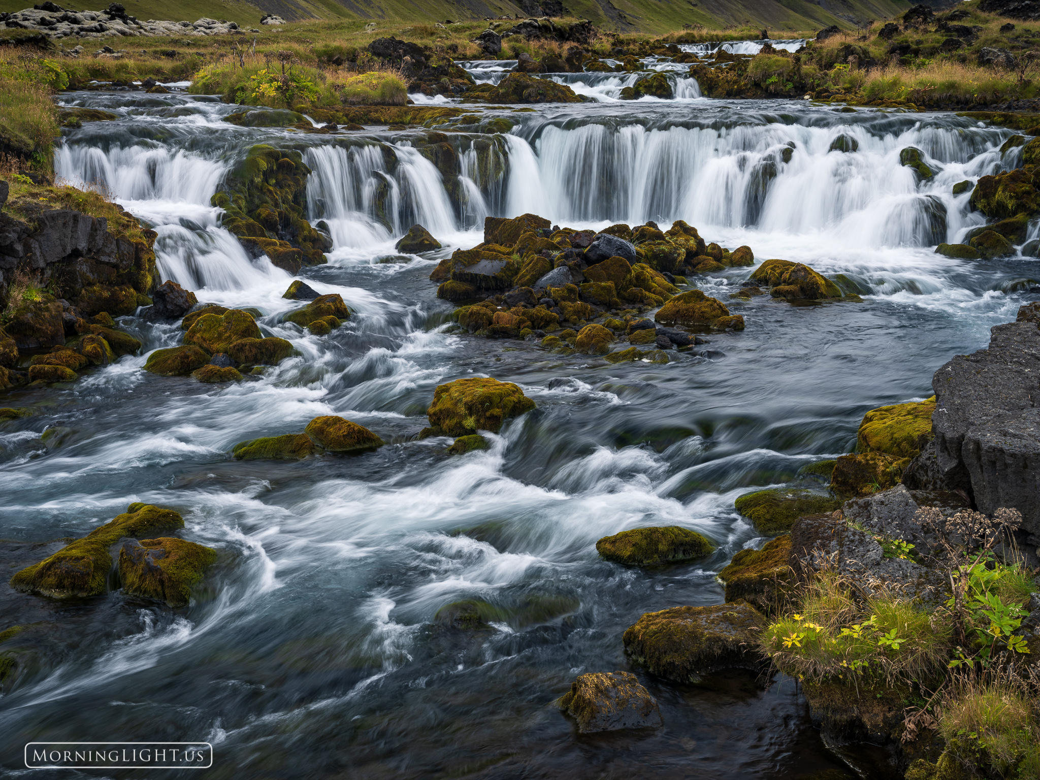
[[[577,76],[602,76],[601,87],[627,78]],[[200,301],[259,309],[264,333],[300,357],[239,385],[154,376],[140,370],[145,354],[177,343],[179,327],[126,317],[141,356],[70,389],[8,393],[5,405],[41,414],[0,431],[5,565],[38,560],[26,543],[81,536],[132,501],[178,509],[184,536],[220,560],[176,612],[119,592],[53,603],[8,591],[0,629],[60,630],[0,699],[6,772],[18,775],[30,739],[206,739],[214,768],[191,777],[887,776],[869,751],[829,750],[782,677],[675,685],[634,670],[665,719],[650,733],[577,736],[550,703],[578,674],[628,669],[621,634],[644,612],[722,600],[716,573],[764,541],[734,512],[736,496],[848,451],[865,410],[930,395],[940,364],[1037,297],[1034,258],[933,252],[981,224],[951,186],[1013,166],[1017,151],[998,152],[1009,131],[946,114],[688,97],[502,109],[518,123],[505,136],[450,134],[449,197],[420,132],[239,128],[220,121],[236,107],[181,94],[62,101],[121,119],[69,132],[59,175],[103,185],[153,226],[164,279]],[[840,134],[858,151],[829,151]],[[301,276],[356,312],[329,336],[279,323],[292,308],[281,298],[289,275],[251,260],[209,205],[256,142],[292,144],[314,171],[310,217],[327,223],[335,249]],[[933,180],[900,166],[907,146],[938,171]],[[572,227],[685,219],[759,259],[844,274],[864,301],[733,302],[750,269],[701,278],[747,330],[668,365],[608,366],[450,333],[431,268],[482,240],[485,216],[528,211]],[[395,256],[415,222],[445,250]],[[490,436],[487,451],[448,457],[445,439],[414,440],[434,388],[472,374],[516,382],[538,410]],[[389,444],[300,463],[228,454],[321,414]],[[47,427],[61,428],[50,445]],[[660,571],[596,554],[597,539],[652,524],[700,530],[719,549]],[[478,632],[433,623],[461,598],[508,617]]]

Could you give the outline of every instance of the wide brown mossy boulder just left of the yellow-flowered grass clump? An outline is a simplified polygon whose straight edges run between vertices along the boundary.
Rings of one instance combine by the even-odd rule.
[[[721,669],[757,671],[765,627],[761,613],[745,601],[716,606],[677,606],[647,613],[625,630],[625,653],[634,664],[676,682],[697,682]]]

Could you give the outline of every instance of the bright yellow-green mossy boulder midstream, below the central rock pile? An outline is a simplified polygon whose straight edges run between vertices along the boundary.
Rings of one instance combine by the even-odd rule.
[[[426,410],[438,436],[467,436],[477,431],[497,434],[502,423],[535,408],[535,401],[512,382],[464,379],[439,385]]]

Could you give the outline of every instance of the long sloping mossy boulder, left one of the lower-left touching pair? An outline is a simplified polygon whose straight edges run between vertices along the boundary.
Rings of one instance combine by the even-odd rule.
[[[132,503],[125,514],[95,528],[10,578],[10,587],[52,598],[97,596],[104,593],[112,568],[109,547],[124,537],[141,539],[184,527],[173,510]]]

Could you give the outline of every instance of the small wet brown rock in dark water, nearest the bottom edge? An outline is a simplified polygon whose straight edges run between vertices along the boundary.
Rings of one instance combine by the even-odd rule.
[[[580,675],[555,703],[577,722],[582,734],[656,728],[664,723],[657,701],[628,672]]]

